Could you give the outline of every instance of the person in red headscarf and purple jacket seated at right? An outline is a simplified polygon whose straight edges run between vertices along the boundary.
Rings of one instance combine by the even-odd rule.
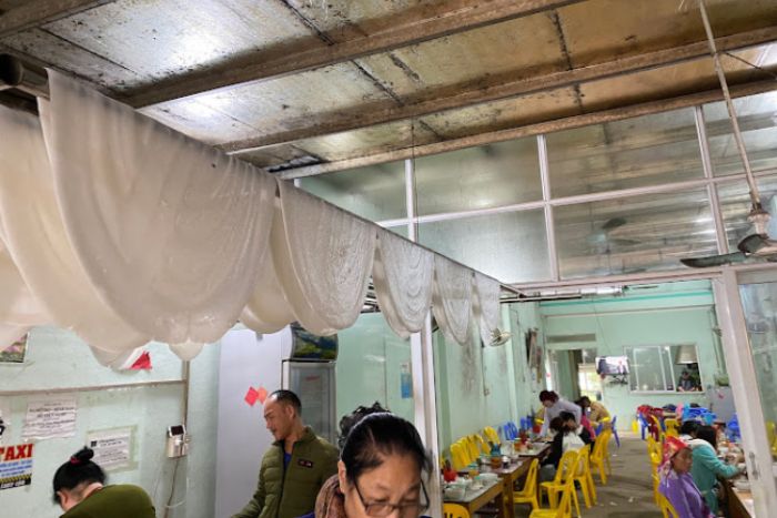
[[[676,437],[664,441],[664,460],[658,468],[658,490],[669,500],[679,518],[715,518],[690,477],[694,460],[688,445]]]

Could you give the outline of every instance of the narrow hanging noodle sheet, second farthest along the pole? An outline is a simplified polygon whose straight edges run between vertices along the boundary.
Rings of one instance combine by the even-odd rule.
[[[450,341],[470,342],[472,316],[472,271],[442,255],[434,257],[432,313]]]

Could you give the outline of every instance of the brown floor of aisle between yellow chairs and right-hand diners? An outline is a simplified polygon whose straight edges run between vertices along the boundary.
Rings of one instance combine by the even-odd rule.
[[[653,501],[653,485],[650,483],[650,464],[646,446],[638,436],[620,434],[620,448],[610,444],[613,476],[607,485],[596,481],[597,505],[586,509],[581,499],[581,512],[584,518],[659,518],[660,511]],[[516,506],[516,518],[527,517],[528,506]],[[575,516],[573,510],[573,516]]]

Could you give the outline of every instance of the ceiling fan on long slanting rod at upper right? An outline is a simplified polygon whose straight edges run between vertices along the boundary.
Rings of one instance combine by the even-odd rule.
[[[750,161],[747,159],[745,142],[741,138],[741,132],[739,131],[739,122],[737,121],[736,110],[734,109],[734,103],[731,102],[731,97],[728,92],[728,83],[726,82],[726,75],[723,72],[723,65],[720,64],[718,51],[715,47],[713,29],[709,26],[709,19],[707,18],[707,9],[704,4],[704,0],[699,1],[699,9],[702,11],[702,20],[704,21],[704,28],[707,32],[707,42],[709,43],[709,51],[713,54],[713,61],[715,62],[715,71],[717,72],[718,80],[720,81],[723,97],[726,100],[728,116],[731,120],[731,128],[734,129],[734,140],[736,141],[737,149],[739,151],[739,156],[741,158],[741,162],[745,166],[745,176],[747,179],[747,185],[749,187],[750,194],[750,213],[747,215],[747,221],[750,222],[755,232],[745,236],[745,238],[743,238],[737,244],[738,252],[720,255],[709,255],[706,257],[685,257],[680,260],[680,263],[692,268],[704,268],[708,266],[722,266],[724,264],[741,263],[750,257],[760,257],[767,261],[777,262],[777,240],[769,238],[769,234],[766,230],[767,224],[769,223],[769,219],[771,216],[764,209],[760,202],[760,194],[758,193],[758,186],[756,185],[755,176],[753,175],[753,171],[750,170]]]

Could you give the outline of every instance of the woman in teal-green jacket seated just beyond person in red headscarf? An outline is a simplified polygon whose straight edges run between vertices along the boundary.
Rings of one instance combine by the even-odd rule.
[[[709,509],[717,515],[718,497],[715,492],[717,477],[731,478],[741,471],[717,457],[717,431],[712,426],[702,426],[696,431],[696,439],[690,441],[694,464],[690,476],[702,491]]]

